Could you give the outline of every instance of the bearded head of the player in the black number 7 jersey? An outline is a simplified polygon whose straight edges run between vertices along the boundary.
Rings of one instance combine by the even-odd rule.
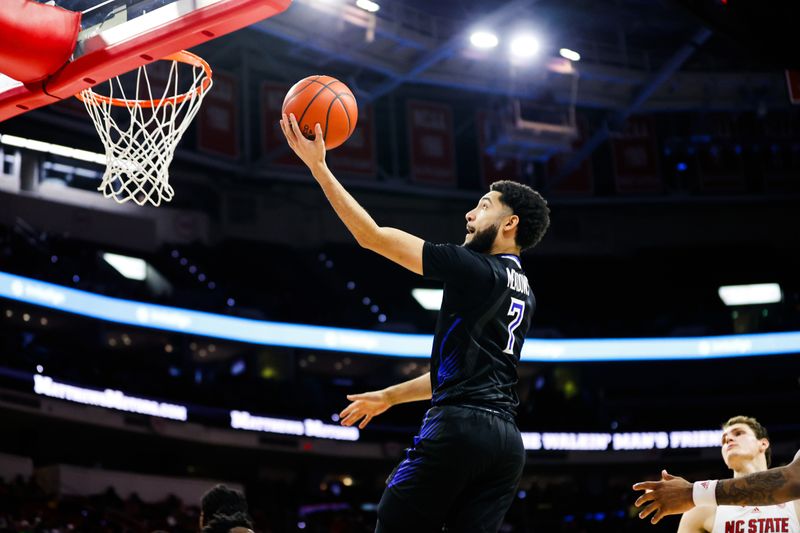
[[[550,208],[542,195],[515,181],[496,181],[478,205],[466,214],[464,246],[489,253],[495,242],[520,251],[535,246],[550,226]]]

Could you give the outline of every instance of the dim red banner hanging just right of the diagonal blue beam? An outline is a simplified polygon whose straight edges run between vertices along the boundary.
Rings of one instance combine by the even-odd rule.
[[[652,118],[628,118],[623,132],[611,135],[611,153],[618,193],[658,193],[663,190]]]

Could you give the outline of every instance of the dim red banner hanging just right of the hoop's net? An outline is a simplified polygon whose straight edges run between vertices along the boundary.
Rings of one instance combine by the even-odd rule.
[[[239,157],[239,84],[235,76],[214,71],[214,86],[197,116],[197,149],[212,155]]]

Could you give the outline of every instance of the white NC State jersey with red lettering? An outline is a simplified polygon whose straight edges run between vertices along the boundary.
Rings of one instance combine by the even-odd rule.
[[[711,533],[800,533],[800,520],[794,503],[720,505]]]

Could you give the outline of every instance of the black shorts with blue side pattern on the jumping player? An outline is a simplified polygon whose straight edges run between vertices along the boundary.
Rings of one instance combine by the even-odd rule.
[[[511,507],[525,448],[510,418],[432,407],[386,480],[376,533],[496,532]]]

